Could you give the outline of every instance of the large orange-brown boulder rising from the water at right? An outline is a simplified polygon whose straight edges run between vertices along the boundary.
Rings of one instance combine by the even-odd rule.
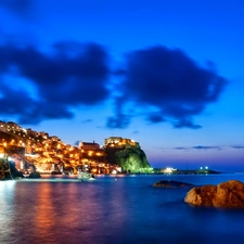
[[[204,185],[190,190],[185,203],[195,206],[244,208],[244,183],[230,180],[218,185]]]

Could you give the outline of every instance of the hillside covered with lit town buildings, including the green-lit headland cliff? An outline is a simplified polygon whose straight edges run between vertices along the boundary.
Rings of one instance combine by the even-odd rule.
[[[37,132],[23,129],[15,123],[0,121],[0,146],[9,157],[16,156],[14,163],[20,165],[16,166],[18,170],[23,167],[25,169],[26,165],[35,165],[40,172],[66,170],[70,167],[75,172],[77,167],[85,166],[86,170],[94,174],[121,170],[145,172],[150,169],[140,144],[120,137],[105,139],[103,147],[99,144],[95,146],[94,142],[84,142],[81,147],[77,147],[65,144],[59,137],[50,137],[44,131]]]

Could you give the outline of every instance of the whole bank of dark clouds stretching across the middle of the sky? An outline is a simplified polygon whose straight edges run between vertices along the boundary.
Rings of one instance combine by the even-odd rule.
[[[35,46],[8,42],[0,53],[0,114],[15,114],[21,124],[73,118],[73,108],[114,98],[110,128],[128,127],[140,112],[152,124],[197,129],[194,117],[218,101],[227,84],[213,64],[201,67],[182,50],[164,46],[128,52],[117,70],[98,43],[57,42],[44,53]],[[108,89],[112,78],[120,82]],[[23,80],[36,97],[16,89]]]

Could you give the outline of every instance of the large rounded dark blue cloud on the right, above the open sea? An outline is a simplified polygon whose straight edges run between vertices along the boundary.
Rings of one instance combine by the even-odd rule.
[[[201,128],[193,118],[218,100],[227,84],[211,63],[201,67],[181,50],[162,46],[129,53],[124,69],[116,74],[124,75],[124,106],[133,101],[149,112],[150,121],[170,121],[176,128]],[[121,105],[118,114],[120,110]]]

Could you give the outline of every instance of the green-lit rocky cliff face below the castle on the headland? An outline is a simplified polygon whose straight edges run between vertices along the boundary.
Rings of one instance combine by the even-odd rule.
[[[119,165],[127,171],[140,172],[142,168],[150,168],[145,153],[139,147],[106,149],[106,155],[110,164]]]

